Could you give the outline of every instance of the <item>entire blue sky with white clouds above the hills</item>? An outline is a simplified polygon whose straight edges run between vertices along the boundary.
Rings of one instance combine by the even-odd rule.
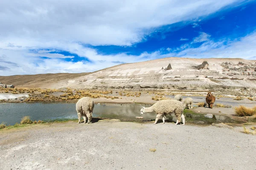
[[[256,0],[0,0],[0,76],[256,59]]]

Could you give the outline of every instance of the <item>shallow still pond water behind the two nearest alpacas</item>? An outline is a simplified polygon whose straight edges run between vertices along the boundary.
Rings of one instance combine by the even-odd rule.
[[[150,105],[144,105],[149,107]],[[137,119],[142,105],[139,104],[96,104],[93,117],[106,119],[120,119],[122,121],[143,122],[151,121],[156,117],[155,113],[143,114],[143,119]],[[215,122],[232,122],[229,117],[215,115],[213,119],[205,118],[204,114],[184,111],[186,122],[196,124],[211,124]],[[1,103],[0,123],[7,125],[19,123],[23,116],[30,116],[32,120],[51,121],[55,119],[77,119],[75,103]],[[176,122],[174,114],[167,116],[166,122]],[[159,122],[162,122],[161,120]]]

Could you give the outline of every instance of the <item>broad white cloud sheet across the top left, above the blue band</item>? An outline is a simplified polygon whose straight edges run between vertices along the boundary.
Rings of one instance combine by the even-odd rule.
[[[1,0],[0,39],[131,45],[143,30],[212,14],[241,0]]]

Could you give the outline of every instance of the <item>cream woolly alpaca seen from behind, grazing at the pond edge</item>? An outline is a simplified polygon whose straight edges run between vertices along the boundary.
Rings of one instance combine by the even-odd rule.
[[[90,97],[83,97],[76,102],[76,111],[78,116],[78,123],[80,123],[81,117],[84,119],[84,123],[86,123],[86,119],[88,119],[87,123],[90,123],[93,115],[94,102]]]

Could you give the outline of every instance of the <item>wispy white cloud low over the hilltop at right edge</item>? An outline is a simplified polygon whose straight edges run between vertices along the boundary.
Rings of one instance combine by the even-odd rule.
[[[189,45],[178,53],[172,53],[175,57],[192,58],[243,58],[256,59],[256,31],[235,40],[221,39],[217,42],[207,39],[198,48]]]

